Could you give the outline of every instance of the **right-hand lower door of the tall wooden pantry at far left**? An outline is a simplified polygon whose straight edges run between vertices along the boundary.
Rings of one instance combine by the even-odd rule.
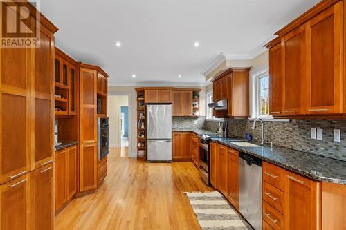
[[[53,229],[54,226],[54,184],[53,164],[48,164],[32,173],[30,199],[34,218],[30,217],[32,229]]]

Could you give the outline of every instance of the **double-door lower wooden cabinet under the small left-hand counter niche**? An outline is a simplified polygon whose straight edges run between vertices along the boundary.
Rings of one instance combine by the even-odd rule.
[[[76,193],[77,146],[55,152],[55,212]]]

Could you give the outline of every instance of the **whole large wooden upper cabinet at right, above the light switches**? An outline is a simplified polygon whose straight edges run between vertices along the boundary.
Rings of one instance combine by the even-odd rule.
[[[271,115],[345,114],[343,14],[343,1],[321,1],[267,44]]]

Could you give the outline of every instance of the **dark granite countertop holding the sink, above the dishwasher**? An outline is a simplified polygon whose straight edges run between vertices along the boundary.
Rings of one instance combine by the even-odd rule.
[[[277,166],[281,166],[284,169],[291,170],[313,180],[346,184],[346,162],[342,160],[334,160],[329,157],[295,151],[279,146],[274,146],[273,149],[270,146],[237,146],[231,143],[233,140],[230,138],[212,138],[211,140],[235,148],[238,151],[254,155],[266,162],[276,164]]]

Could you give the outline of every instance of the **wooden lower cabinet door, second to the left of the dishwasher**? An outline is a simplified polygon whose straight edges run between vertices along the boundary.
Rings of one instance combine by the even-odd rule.
[[[217,154],[219,160],[219,171],[218,171],[218,181],[219,181],[219,191],[225,196],[228,196],[228,148],[221,144],[217,145]]]

